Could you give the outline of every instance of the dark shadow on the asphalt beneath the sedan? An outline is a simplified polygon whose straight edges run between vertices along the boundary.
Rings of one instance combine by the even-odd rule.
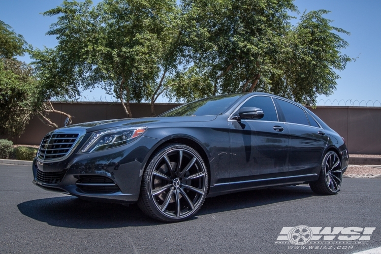
[[[250,190],[207,198],[196,215],[261,207],[311,196],[314,195],[307,186]],[[17,207],[22,214],[55,227],[106,229],[162,224],[144,215],[136,204],[126,207],[120,204],[84,201],[71,196],[26,201]]]

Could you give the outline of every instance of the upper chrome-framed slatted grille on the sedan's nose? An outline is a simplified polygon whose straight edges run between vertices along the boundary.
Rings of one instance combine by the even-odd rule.
[[[50,134],[41,142],[37,157],[42,161],[52,161],[68,154],[79,134]]]

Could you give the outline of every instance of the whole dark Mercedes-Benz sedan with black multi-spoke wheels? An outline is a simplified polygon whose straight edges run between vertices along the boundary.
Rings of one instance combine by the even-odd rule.
[[[148,216],[179,221],[206,197],[309,183],[340,190],[344,139],[307,108],[267,93],[215,96],[158,117],[67,126],[48,133],[33,182],[54,192],[138,203]]]

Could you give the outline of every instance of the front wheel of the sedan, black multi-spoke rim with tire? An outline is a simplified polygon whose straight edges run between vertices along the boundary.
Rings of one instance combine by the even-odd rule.
[[[207,187],[207,170],[197,151],[169,144],[152,155],[143,175],[138,205],[150,217],[183,220],[200,209]]]

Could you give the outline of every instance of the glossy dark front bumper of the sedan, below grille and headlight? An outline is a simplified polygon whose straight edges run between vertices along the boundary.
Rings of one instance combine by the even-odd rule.
[[[74,152],[62,162],[42,163],[35,159],[33,183],[46,190],[91,201],[134,203],[139,198],[145,164],[154,150],[152,148],[158,143],[158,139],[143,136],[130,144],[109,150],[82,154]],[[80,183],[83,177],[91,176],[113,183]],[[110,191],[107,188],[110,185],[116,187]],[[89,187],[92,189],[89,190]]]

